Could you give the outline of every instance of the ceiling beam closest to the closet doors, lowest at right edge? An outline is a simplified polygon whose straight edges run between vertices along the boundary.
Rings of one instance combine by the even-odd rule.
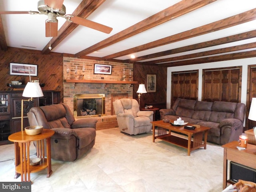
[[[174,67],[174,66],[202,64],[202,63],[250,58],[250,57],[256,57],[256,50],[232,53],[232,54],[225,54],[225,55],[218,55],[218,56],[210,56],[210,57],[206,57],[206,58],[198,58],[198,59],[185,60],[185,61],[170,62],[170,63],[164,63],[164,64],[158,64],[158,65],[162,66],[162,67]]]

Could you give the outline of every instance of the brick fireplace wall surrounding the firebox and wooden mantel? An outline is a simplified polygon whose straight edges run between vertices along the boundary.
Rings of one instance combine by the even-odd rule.
[[[119,84],[119,83],[84,83],[84,82],[66,82],[66,71],[69,69],[69,77],[74,76],[77,69],[77,76],[83,77],[85,80],[112,80],[122,81],[123,72],[128,76],[133,72],[133,64],[128,63],[116,63],[116,62],[103,62],[96,60],[69,58],[64,57],[63,60],[63,76],[64,76],[64,103],[68,104],[70,110],[74,112],[74,95],[76,94],[104,94],[105,95],[105,114],[99,118],[99,121],[110,118],[113,120],[112,102],[116,95],[124,95],[127,98],[132,98],[133,84]],[[111,75],[106,74],[94,74],[94,64],[108,64],[112,65]],[[108,121],[108,120],[107,120]],[[111,124],[108,122],[108,124]]]

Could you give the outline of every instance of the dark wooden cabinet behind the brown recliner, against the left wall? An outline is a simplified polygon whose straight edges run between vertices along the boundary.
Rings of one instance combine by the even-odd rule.
[[[21,131],[21,101],[27,100],[22,96],[23,91],[0,92],[0,145],[10,144],[8,136]],[[44,106],[60,103],[60,92],[43,91],[44,96],[24,101],[23,128],[29,126],[27,112],[34,106]]]

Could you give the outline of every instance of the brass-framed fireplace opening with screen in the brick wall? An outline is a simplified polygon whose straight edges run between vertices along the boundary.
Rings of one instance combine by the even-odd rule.
[[[105,94],[74,95],[74,116],[105,114]]]

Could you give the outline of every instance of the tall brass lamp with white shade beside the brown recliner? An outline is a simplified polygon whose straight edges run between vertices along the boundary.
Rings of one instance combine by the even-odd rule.
[[[23,103],[24,101],[32,101],[33,97],[44,96],[40,84],[38,82],[28,82],[24,88],[23,97],[30,97],[29,99],[21,100],[21,131],[23,131]]]

